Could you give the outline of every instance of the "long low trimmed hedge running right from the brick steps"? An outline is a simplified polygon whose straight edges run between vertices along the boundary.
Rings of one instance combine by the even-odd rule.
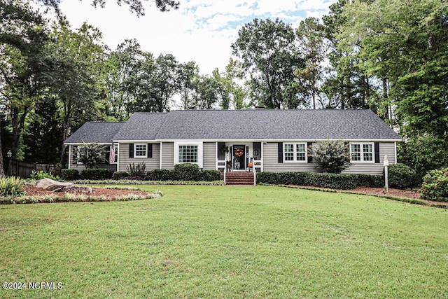
[[[369,174],[328,174],[310,172],[260,172],[258,183],[272,185],[298,185],[349,190],[357,187],[381,188],[383,176]]]

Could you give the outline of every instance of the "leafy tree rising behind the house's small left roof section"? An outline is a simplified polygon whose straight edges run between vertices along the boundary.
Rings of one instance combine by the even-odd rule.
[[[62,109],[62,141],[86,120],[102,120],[99,102],[101,66],[104,63],[102,34],[83,24],[77,32],[55,27],[55,42],[48,45],[52,61],[47,83]],[[62,142],[61,141],[61,142]],[[64,151],[62,151],[61,162]]]

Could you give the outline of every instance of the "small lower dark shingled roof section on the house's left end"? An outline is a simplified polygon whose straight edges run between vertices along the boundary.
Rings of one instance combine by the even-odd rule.
[[[119,122],[87,122],[67,138],[64,143],[81,144],[83,142],[93,142],[109,144],[112,142],[113,136],[117,134],[124,124]]]

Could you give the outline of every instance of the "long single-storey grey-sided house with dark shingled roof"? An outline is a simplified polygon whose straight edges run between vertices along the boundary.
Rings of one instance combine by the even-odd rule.
[[[351,166],[344,173],[382,174],[384,155],[397,162],[401,137],[365,109],[185,110],[88,122],[64,144],[69,168],[79,170],[84,167],[75,162],[76,148],[97,143],[111,149],[101,167],[123,172],[141,162],[146,170],[188,162],[222,172],[319,172],[309,147],[328,139],[349,144]]]

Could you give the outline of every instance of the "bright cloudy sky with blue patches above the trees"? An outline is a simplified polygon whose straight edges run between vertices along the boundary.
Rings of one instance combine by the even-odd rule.
[[[85,21],[98,27],[111,49],[125,39],[137,39],[143,50],[172,54],[179,62],[194,60],[201,74],[211,74],[216,67],[224,70],[238,30],[254,18],[279,18],[297,27],[304,18],[321,18],[337,0],[180,1],[179,10],[167,13],[158,11],[152,0],[144,1],[146,15],[140,18],[113,0],[106,8],[93,8],[90,0],[66,0],[61,10],[73,28]]]

